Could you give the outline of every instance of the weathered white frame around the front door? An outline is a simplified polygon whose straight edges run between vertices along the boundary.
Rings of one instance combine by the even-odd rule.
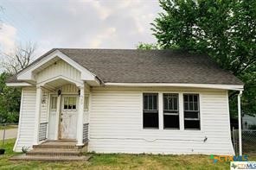
[[[65,97],[75,97],[76,98],[76,122],[77,122],[77,114],[78,114],[78,111],[79,111],[79,98],[78,98],[78,95],[77,94],[61,94],[60,96],[60,104],[59,104],[59,118],[58,118],[58,139],[63,139],[61,138],[61,115],[62,115],[62,111],[64,110],[64,98]],[[77,130],[77,129],[76,129]],[[77,136],[76,136],[76,131],[75,131],[75,137],[74,139],[76,139]]]

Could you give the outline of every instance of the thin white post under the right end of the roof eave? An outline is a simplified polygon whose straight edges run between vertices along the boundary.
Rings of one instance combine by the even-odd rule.
[[[241,129],[241,105],[240,98],[242,96],[243,91],[240,91],[237,97],[237,105],[238,105],[238,131],[239,131],[239,154],[242,155],[242,129]]]

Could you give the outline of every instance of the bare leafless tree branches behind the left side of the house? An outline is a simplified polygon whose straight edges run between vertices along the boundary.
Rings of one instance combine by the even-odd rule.
[[[35,54],[35,44],[28,42],[25,46],[17,46],[14,54],[3,54],[1,66],[6,72],[16,74],[29,66]]]

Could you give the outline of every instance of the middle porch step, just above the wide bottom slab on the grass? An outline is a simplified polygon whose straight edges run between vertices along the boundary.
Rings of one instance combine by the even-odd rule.
[[[80,156],[82,153],[80,149],[48,149],[35,148],[27,153],[27,155],[48,155],[48,156]]]

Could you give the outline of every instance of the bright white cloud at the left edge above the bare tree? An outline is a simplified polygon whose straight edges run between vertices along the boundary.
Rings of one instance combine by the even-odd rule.
[[[0,47],[3,53],[10,53],[16,46],[16,28],[3,23],[0,28]]]

